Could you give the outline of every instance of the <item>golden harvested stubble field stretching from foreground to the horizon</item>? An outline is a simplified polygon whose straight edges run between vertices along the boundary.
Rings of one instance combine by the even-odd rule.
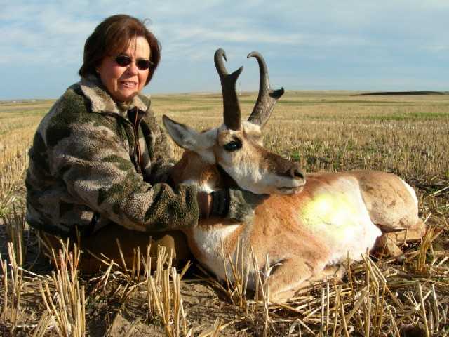
[[[239,97],[243,117],[255,98]],[[170,270],[163,252],[152,271],[145,253],[128,270],[105,261],[104,274],[87,276],[76,274],[67,253],[67,265],[52,270],[23,216],[27,149],[52,104],[0,102],[3,336],[449,335],[449,95],[289,91],[281,98],[264,130],[269,150],[306,172],[394,172],[417,191],[430,229],[421,244],[404,247],[405,260],[366,258],[343,282],[316,284],[287,305],[243,296],[241,284],[228,288],[194,261],[185,275]],[[222,122],[218,94],[157,95],[152,104],[159,121],[167,114],[197,129]]]

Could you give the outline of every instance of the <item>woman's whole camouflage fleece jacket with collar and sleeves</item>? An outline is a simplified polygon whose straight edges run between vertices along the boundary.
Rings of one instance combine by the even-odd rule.
[[[196,187],[160,183],[172,149],[149,105],[143,95],[117,105],[94,77],[70,86],[29,150],[29,225],[63,236],[110,221],[140,231],[196,225]]]

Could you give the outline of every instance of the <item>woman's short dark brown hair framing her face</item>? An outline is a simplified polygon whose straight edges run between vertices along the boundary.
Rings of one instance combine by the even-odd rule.
[[[83,65],[79,68],[79,76],[89,74],[97,76],[96,68],[107,55],[123,53],[135,37],[145,37],[148,41],[152,65],[149,67],[145,85],[152,79],[154,71],[161,60],[161,45],[154,34],[145,27],[145,22],[129,15],[112,15],[103,20],[84,44]]]

